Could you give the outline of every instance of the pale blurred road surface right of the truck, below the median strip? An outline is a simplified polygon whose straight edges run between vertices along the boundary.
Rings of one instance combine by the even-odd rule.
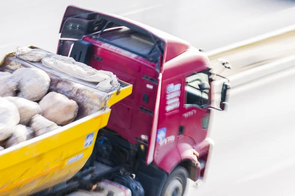
[[[207,182],[188,196],[294,196],[295,68],[231,92],[216,111]]]

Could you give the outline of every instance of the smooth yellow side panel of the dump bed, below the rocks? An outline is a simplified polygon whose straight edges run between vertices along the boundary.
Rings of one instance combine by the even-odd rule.
[[[97,132],[107,125],[110,112],[107,108],[1,151],[0,195],[25,196],[70,179],[91,155]],[[93,137],[87,140],[89,135]]]

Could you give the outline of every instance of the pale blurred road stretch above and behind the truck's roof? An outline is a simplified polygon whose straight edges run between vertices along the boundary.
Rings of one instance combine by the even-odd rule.
[[[120,14],[205,51],[294,24],[294,0],[13,0],[0,2],[0,52],[36,45],[55,52],[67,5]]]

